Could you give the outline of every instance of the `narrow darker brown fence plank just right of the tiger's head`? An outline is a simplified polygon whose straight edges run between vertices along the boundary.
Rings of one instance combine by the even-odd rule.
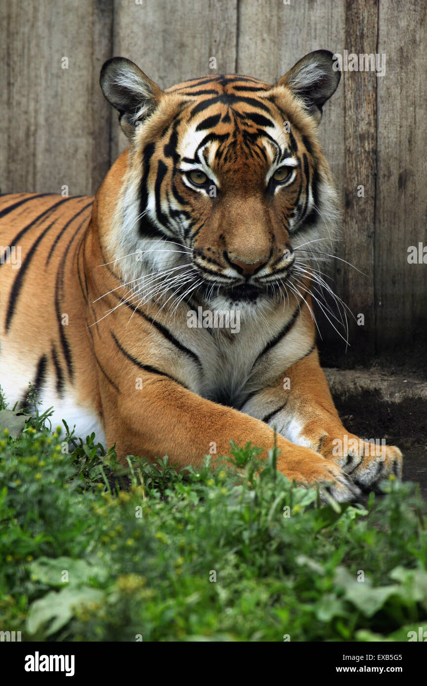
[[[345,47],[348,54],[375,54],[377,34],[378,0],[368,3],[347,0]],[[358,69],[361,69],[359,61]],[[359,322],[349,320],[350,357],[357,362],[367,362],[375,354],[376,88],[380,77],[375,71],[343,71],[343,77],[345,178],[343,241],[339,257],[359,271],[338,262],[336,274],[339,289]]]

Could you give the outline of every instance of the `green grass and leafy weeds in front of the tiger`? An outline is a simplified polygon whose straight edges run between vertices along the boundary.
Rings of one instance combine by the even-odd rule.
[[[260,464],[235,447],[238,471],[209,458],[199,471],[134,457],[124,469],[94,436],[52,433],[46,415],[19,434],[16,421],[0,415],[0,630],[407,641],[427,629],[426,503],[414,484],[389,480],[366,508],[325,505],[276,472],[274,451]]]

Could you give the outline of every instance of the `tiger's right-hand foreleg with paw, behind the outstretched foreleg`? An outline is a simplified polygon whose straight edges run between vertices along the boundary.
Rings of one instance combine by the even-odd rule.
[[[332,401],[317,351],[295,363],[280,379],[276,400],[283,407],[267,418],[272,427],[297,445],[334,460],[362,487],[375,486],[389,474],[402,476],[402,453],[395,446],[379,445],[350,434]],[[284,390],[286,387],[286,390]],[[279,390],[278,390],[279,389]]]

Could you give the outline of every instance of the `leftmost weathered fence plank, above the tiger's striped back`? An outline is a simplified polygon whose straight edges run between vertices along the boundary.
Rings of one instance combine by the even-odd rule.
[[[109,167],[112,0],[1,0],[2,193],[95,193]],[[62,69],[68,58],[68,69]]]

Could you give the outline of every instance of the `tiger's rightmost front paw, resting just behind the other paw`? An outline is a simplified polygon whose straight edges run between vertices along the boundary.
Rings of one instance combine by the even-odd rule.
[[[376,486],[390,474],[402,478],[402,453],[394,445],[385,445],[384,439],[363,440],[354,434],[322,438],[321,454],[337,462],[358,486]]]

